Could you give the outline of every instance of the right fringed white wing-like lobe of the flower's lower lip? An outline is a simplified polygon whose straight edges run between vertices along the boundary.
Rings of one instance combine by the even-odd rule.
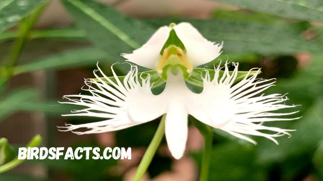
[[[209,73],[206,73],[203,79],[202,93],[193,95],[191,102],[187,105],[189,114],[205,124],[227,131],[252,143],[255,143],[255,141],[242,134],[263,136],[278,144],[276,137],[290,135],[288,131],[293,130],[267,127],[262,123],[298,119],[278,118],[278,116],[296,112],[271,113],[274,110],[295,106],[281,104],[287,100],[284,95],[255,96],[273,86],[275,82],[272,80],[256,80],[256,74],[250,77],[246,76],[242,81],[232,86],[238,71],[238,64],[234,64],[234,66],[235,69],[230,75],[227,64],[225,64],[224,74],[220,77],[220,80],[218,80],[219,67],[215,70],[213,80]],[[261,130],[270,130],[273,134],[263,133]]]

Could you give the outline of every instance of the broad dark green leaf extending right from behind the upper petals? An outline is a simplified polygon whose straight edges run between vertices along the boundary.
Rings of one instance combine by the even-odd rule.
[[[147,20],[158,28],[169,22],[189,22],[208,40],[221,43],[223,54],[258,53],[264,55],[294,54],[296,52],[319,52],[322,44],[315,38],[305,39],[307,27],[303,23],[279,21],[272,24],[242,22],[237,20],[214,18],[197,19],[158,19]],[[230,59],[230,57],[228,57]]]

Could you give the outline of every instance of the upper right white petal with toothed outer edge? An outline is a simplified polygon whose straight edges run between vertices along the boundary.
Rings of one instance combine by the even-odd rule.
[[[186,49],[186,56],[194,67],[211,62],[221,54],[222,44],[208,41],[190,23],[180,23],[174,27],[178,38]]]

